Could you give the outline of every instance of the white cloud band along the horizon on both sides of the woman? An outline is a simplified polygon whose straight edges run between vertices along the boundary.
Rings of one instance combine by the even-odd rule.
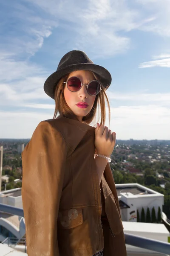
[[[54,110],[47,114],[36,111],[0,112],[1,138],[31,138],[38,123],[53,118],[53,114]],[[13,129],[11,129],[11,123]],[[108,126],[108,122],[105,125]],[[116,132],[117,139],[168,140],[170,139],[170,108],[157,105],[111,108],[110,128]]]

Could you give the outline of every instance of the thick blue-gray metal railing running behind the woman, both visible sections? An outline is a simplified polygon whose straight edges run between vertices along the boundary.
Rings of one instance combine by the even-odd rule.
[[[0,211],[24,217],[24,212],[22,208],[16,208],[6,204],[0,204]],[[170,243],[165,243],[153,239],[146,239],[140,236],[134,236],[127,233],[124,234],[126,244],[152,250],[158,253],[163,253],[165,255],[170,254]]]

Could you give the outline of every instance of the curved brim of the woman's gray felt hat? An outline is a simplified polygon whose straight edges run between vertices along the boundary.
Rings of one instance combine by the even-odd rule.
[[[44,83],[45,93],[48,96],[50,96],[52,99],[54,99],[55,87],[58,81],[66,74],[76,70],[89,70],[96,73],[97,75],[100,76],[102,85],[105,87],[106,90],[111,84],[111,81],[112,81],[111,74],[104,67],[96,64],[90,64],[90,63],[73,64],[71,66],[67,66],[60,70],[57,70],[54,73],[52,73],[50,76],[48,76],[48,78]]]

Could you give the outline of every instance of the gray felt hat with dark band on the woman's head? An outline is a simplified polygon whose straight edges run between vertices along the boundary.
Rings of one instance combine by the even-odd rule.
[[[96,65],[91,61],[85,52],[73,50],[66,53],[59,61],[57,70],[52,73],[44,84],[45,93],[54,99],[54,91],[58,81],[68,73],[76,70],[90,70],[100,76],[105,89],[111,84],[111,74],[102,66]]]

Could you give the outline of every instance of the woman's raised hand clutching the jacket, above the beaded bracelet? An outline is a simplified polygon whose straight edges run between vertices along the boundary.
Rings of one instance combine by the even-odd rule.
[[[97,123],[94,141],[96,154],[104,154],[110,157],[113,152],[115,143],[116,133],[111,132],[107,126],[99,125],[99,123]]]

